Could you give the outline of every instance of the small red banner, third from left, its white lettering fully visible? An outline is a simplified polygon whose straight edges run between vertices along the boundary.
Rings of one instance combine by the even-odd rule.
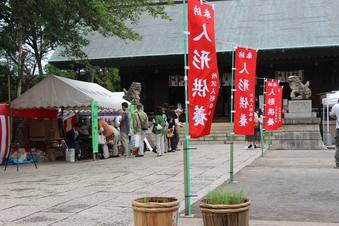
[[[265,130],[277,130],[281,122],[282,89],[278,81],[266,81]],[[280,121],[280,122],[279,122]]]

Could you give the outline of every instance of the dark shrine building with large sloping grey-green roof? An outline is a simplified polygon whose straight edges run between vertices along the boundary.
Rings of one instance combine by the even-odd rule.
[[[177,1],[179,2],[179,1]],[[313,108],[321,107],[319,93],[339,90],[339,1],[328,0],[230,0],[212,1],[220,93],[216,120],[227,120],[231,94],[234,46],[258,50],[256,99],[263,81],[280,80],[283,98],[290,99],[287,77],[310,81]],[[145,112],[167,102],[185,106],[183,6],[165,6],[172,21],[142,15],[130,27],[141,41],[93,34],[83,48],[92,65],[119,68],[121,89],[142,84]],[[60,69],[81,69],[73,60],[59,56],[57,48],[49,63]],[[257,101],[257,107],[259,101]]]

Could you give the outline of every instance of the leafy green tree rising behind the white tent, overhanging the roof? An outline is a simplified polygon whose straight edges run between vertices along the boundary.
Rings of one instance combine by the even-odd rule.
[[[93,31],[140,40],[127,24],[137,24],[142,13],[170,19],[164,2],[172,0],[0,0],[0,48],[17,65],[17,94],[22,84],[44,74],[50,50],[63,46],[64,56],[86,59],[81,48]]]

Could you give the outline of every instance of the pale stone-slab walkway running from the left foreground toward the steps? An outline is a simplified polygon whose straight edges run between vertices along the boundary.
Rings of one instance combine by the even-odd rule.
[[[192,203],[225,182],[229,145],[194,145],[191,150]],[[234,146],[234,172],[260,150]],[[55,161],[16,165],[0,171],[1,225],[133,225],[131,200],[174,196],[184,209],[183,151],[157,157],[110,158],[75,163]],[[189,225],[191,225],[189,223]]]

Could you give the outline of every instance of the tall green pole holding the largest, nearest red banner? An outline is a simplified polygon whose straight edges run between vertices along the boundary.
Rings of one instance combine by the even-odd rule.
[[[185,129],[186,129],[186,148],[183,150],[186,152],[185,158],[185,171],[186,171],[186,181],[185,181],[185,215],[191,215],[191,172],[190,172],[190,153],[189,153],[189,119],[188,119],[188,77],[187,77],[187,9],[186,9],[186,0],[182,1],[182,16],[183,16],[183,32],[184,32],[184,83],[185,83]]]

